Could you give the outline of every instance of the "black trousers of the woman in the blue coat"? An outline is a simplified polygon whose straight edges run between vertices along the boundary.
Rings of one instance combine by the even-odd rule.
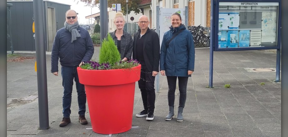
[[[177,76],[167,76],[168,105],[170,107],[174,107],[176,80],[177,80]],[[188,77],[178,77],[178,86],[179,86],[179,93],[180,93],[179,107],[183,107],[183,108],[186,102],[187,82],[188,82]]]

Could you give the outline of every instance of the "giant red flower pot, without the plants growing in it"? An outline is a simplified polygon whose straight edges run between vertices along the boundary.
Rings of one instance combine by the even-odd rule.
[[[117,134],[132,127],[135,82],[141,65],[131,69],[88,70],[77,68],[85,85],[92,130],[99,134]]]

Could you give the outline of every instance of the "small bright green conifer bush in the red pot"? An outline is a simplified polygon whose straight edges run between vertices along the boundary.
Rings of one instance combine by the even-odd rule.
[[[110,33],[108,33],[107,39],[104,38],[102,41],[102,47],[100,48],[99,53],[99,63],[109,63],[114,65],[120,60],[121,57],[117,46],[115,45]]]

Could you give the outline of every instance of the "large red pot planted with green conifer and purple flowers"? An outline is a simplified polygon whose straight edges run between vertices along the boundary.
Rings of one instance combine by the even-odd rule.
[[[120,59],[108,35],[102,42],[98,62],[88,61],[77,68],[79,81],[85,85],[92,130],[96,133],[118,134],[132,127],[135,82],[140,79],[141,65],[137,60]]]

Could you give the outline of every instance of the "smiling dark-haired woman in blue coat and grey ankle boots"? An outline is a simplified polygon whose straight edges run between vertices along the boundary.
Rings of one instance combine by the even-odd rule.
[[[186,102],[186,89],[188,77],[194,71],[195,48],[193,36],[182,24],[179,13],[171,16],[170,30],[164,33],[160,51],[160,72],[167,76],[169,114],[165,120],[171,120],[174,116],[174,100],[176,80],[179,86],[179,107],[177,121],[183,121],[183,108]],[[172,39],[172,37],[175,37]]]

